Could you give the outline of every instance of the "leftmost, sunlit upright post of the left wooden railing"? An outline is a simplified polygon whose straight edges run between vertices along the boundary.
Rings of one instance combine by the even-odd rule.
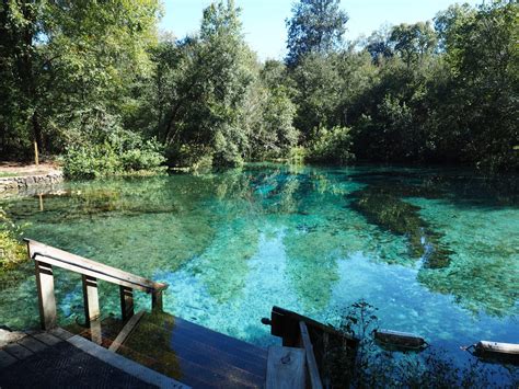
[[[53,266],[35,261],[36,285],[38,289],[39,321],[43,330],[57,325],[56,296],[54,294]]]

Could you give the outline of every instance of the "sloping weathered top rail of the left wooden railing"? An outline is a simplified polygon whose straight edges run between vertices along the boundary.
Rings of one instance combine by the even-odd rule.
[[[39,261],[50,265],[142,291],[150,293],[168,288],[166,284],[155,283],[31,239],[25,239],[25,241],[28,245],[30,255],[35,261],[39,259]]]

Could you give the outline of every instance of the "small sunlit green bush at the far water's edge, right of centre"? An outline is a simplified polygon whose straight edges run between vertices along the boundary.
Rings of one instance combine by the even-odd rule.
[[[316,128],[307,147],[310,162],[347,163],[355,159],[351,152],[350,129],[347,127]]]

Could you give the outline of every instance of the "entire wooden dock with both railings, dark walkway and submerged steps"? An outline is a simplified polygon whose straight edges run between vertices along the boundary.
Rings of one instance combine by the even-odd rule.
[[[27,247],[44,331],[0,350],[2,389],[322,388],[322,355],[315,358],[312,343],[320,339],[315,334],[336,335],[327,327],[275,307],[269,323],[284,345],[267,351],[163,312],[165,284],[33,240]],[[76,335],[57,327],[54,266],[82,275],[86,327],[76,329]],[[102,320],[99,281],[119,287],[122,320]],[[151,312],[134,312],[134,289],[151,295]]]

